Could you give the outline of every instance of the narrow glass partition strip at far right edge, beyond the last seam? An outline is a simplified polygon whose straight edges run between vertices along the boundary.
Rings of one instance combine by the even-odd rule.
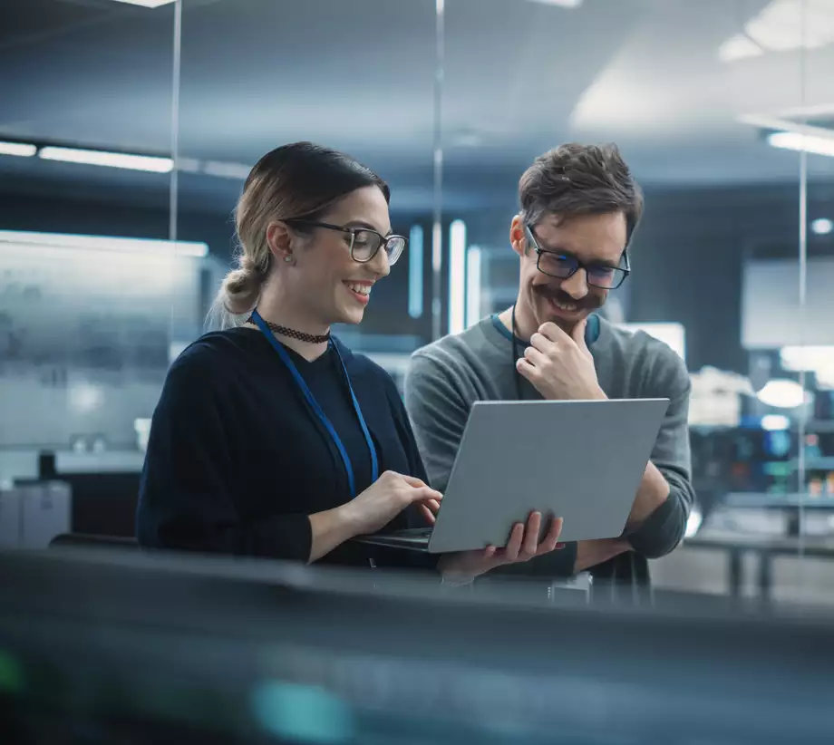
[[[795,34],[801,46],[800,92],[795,106],[774,122],[783,144],[798,152],[800,189],[795,338],[779,350],[782,370],[804,391],[795,417],[800,507],[793,516],[801,563],[773,561],[777,598],[807,606],[829,605],[834,587],[831,534],[834,530],[834,335],[827,320],[834,305],[831,197],[834,195],[834,11],[827,4],[800,4]]]

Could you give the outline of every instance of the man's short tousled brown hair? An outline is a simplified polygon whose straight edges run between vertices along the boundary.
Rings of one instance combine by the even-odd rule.
[[[519,181],[519,202],[530,226],[548,212],[565,217],[622,212],[627,241],[643,215],[643,191],[614,144],[570,142],[539,155]]]

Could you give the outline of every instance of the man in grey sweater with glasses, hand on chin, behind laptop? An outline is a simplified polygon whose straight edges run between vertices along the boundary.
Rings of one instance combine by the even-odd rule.
[[[516,304],[414,353],[406,376],[406,407],[432,486],[446,488],[473,402],[668,398],[623,536],[568,544],[534,559],[530,571],[573,576],[628,551],[664,556],[684,537],[693,503],[689,375],[664,343],[600,314],[590,324],[596,340],[586,343],[589,315],[629,274],[642,192],[615,146],[568,144],[529,167],[519,201],[509,228],[519,256]],[[530,447],[548,457],[547,442]]]

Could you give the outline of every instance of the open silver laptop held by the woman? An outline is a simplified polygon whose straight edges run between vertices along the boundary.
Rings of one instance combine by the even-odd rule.
[[[507,545],[516,522],[564,519],[560,541],[620,536],[668,399],[476,402],[435,525],[360,537],[444,554]]]

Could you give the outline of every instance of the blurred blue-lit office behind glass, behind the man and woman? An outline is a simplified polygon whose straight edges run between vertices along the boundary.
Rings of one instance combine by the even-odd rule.
[[[390,182],[408,254],[340,331],[402,380],[513,300],[530,161],[613,140],[646,212],[606,314],[693,379],[699,505],[655,588],[834,603],[832,70],[834,0],[6,0],[0,542],[132,534],[267,150]]]

